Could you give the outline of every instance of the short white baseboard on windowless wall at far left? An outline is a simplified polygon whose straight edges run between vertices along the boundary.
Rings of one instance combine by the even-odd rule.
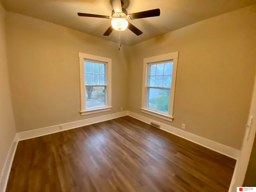
[[[16,135],[15,135],[12,145],[10,146],[8,155],[6,157],[1,176],[0,176],[0,192],[5,192],[6,190],[10,170],[12,167],[12,161],[14,158],[14,154],[16,152],[17,145],[18,145],[18,141],[16,140]]]

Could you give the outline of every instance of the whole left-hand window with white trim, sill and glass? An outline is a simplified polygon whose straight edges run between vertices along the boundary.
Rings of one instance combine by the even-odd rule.
[[[111,59],[79,53],[81,114],[112,110]]]

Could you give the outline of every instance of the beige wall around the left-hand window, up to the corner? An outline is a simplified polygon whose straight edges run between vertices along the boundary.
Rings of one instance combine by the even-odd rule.
[[[126,46],[14,13],[6,32],[18,132],[128,109]],[[78,52],[112,58],[112,111],[80,115]]]

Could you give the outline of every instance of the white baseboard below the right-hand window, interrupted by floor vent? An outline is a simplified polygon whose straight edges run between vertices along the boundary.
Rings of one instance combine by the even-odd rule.
[[[150,118],[147,118],[145,116],[142,116],[140,114],[136,114],[136,113],[130,112],[130,111],[128,111],[128,116],[136,118],[136,119],[138,119],[140,121],[143,121],[147,124],[150,124],[150,121],[151,121]],[[186,140],[192,141],[196,144],[199,144],[201,146],[204,146],[206,148],[209,148],[211,150],[214,150],[216,152],[219,152],[221,154],[224,154],[224,155],[226,155],[228,157],[231,157],[231,158],[234,158],[236,160],[239,158],[240,150],[237,150],[237,149],[231,148],[229,146],[220,144],[218,142],[200,137],[198,135],[186,132],[184,130],[180,130],[178,128],[175,128],[173,126],[170,126],[170,125],[167,125],[167,124],[164,124],[164,123],[160,123],[160,124],[161,124],[160,129],[162,129],[166,132],[169,132],[171,134],[174,134],[174,135],[179,136],[181,138],[184,138]]]

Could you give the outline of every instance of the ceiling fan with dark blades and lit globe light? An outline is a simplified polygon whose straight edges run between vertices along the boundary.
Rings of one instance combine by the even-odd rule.
[[[77,13],[77,14],[78,16],[83,16],[83,17],[112,19],[111,26],[103,34],[104,36],[109,36],[114,29],[117,31],[123,31],[126,28],[130,29],[136,35],[141,35],[142,31],[136,28],[133,24],[131,24],[127,20],[160,16],[160,9],[153,9],[153,10],[147,10],[147,11],[128,14],[126,9],[122,8],[123,4],[124,2],[122,0],[112,0],[112,6],[114,9],[112,10],[111,16],[88,14],[88,13]]]

